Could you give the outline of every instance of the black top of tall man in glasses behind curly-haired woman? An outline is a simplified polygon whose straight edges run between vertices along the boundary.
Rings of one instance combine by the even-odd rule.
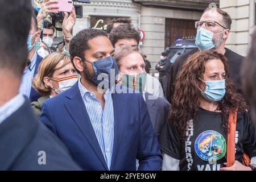
[[[229,66],[229,73],[231,80],[236,84],[237,92],[242,93],[242,85],[241,85],[241,79],[240,79],[240,68],[242,65],[243,59],[245,57],[238,55],[238,53],[231,51],[228,48],[225,48],[225,56],[228,59],[228,66]],[[169,78],[168,78],[168,84],[167,84],[167,90],[166,90],[166,97],[167,100],[171,103],[171,98],[174,95],[174,84],[176,81],[177,74],[180,72],[180,69],[182,68],[183,64],[187,60],[188,56],[192,55],[193,53],[199,51],[199,49],[195,48],[191,51],[185,52],[179,57],[177,57],[174,64],[172,64],[172,67],[169,72]]]

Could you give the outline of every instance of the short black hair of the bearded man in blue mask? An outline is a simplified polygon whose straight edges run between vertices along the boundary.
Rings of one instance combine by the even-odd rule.
[[[76,67],[73,63],[74,57],[77,56],[77,57],[80,57],[81,59],[84,59],[85,57],[84,51],[90,49],[88,45],[88,41],[93,38],[96,38],[97,36],[108,37],[105,31],[97,30],[94,28],[87,28],[87,29],[81,30],[73,37],[69,46],[69,53],[71,56],[72,64],[75,69]],[[79,72],[77,69],[76,71]]]

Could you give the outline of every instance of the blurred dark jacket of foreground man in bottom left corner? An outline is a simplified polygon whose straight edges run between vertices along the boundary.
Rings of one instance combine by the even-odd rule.
[[[0,124],[0,170],[79,170],[67,148],[42,123],[28,102]],[[45,152],[46,164],[40,151]],[[39,162],[38,162],[39,161]]]

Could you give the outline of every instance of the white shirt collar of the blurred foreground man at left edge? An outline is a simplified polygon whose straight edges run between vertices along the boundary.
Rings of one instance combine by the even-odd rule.
[[[5,119],[10,117],[16,110],[19,109],[25,102],[25,98],[22,94],[18,94],[15,97],[11,98],[10,101],[0,107],[0,125]]]

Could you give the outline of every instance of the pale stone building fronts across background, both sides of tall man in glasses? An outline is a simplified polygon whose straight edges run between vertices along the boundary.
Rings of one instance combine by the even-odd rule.
[[[35,0],[35,5],[42,0]],[[183,36],[195,36],[195,20],[210,3],[228,12],[233,23],[226,47],[245,56],[250,44],[250,35],[256,24],[256,0],[90,0],[78,3],[82,17],[77,18],[73,35],[84,28],[106,29],[113,18],[127,17],[135,28],[145,33],[140,46],[147,55],[152,68],[159,61],[160,53]],[[61,37],[61,32],[57,32]]]

